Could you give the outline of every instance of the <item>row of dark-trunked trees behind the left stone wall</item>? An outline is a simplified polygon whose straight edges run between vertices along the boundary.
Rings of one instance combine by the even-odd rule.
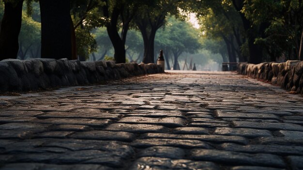
[[[26,0],[28,9],[31,2]],[[117,63],[125,62],[126,35],[131,27],[142,34],[143,62],[153,62],[156,31],[164,25],[168,14],[178,11],[177,0],[39,0],[39,4],[41,57],[75,59],[78,54],[80,59],[85,58],[96,45],[93,37],[88,36],[90,32],[106,27]],[[4,0],[0,59],[17,56],[22,6],[23,0]]]

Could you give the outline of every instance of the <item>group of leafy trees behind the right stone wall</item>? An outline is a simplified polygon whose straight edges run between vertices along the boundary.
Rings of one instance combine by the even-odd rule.
[[[281,56],[303,60],[302,0],[192,2],[189,10],[200,16],[202,32],[208,39],[204,47],[219,49],[225,61],[224,50],[229,62],[274,62]],[[225,49],[217,44],[224,44]]]

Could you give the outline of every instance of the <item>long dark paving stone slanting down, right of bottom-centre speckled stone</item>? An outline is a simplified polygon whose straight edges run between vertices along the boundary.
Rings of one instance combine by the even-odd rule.
[[[227,165],[286,167],[283,159],[277,155],[271,154],[245,154],[209,149],[193,149],[190,153],[190,158],[199,161],[220,162]]]

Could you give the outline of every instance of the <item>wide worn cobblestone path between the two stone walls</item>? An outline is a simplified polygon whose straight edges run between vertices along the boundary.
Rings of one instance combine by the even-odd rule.
[[[303,97],[230,72],[0,96],[0,170],[303,169]]]

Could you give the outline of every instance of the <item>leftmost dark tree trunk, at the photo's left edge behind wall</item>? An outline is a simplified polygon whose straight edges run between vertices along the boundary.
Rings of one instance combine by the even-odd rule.
[[[4,1],[4,15],[0,25],[0,60],[15,59],[18,54],[18,36],[21,29],[23,0]]]

